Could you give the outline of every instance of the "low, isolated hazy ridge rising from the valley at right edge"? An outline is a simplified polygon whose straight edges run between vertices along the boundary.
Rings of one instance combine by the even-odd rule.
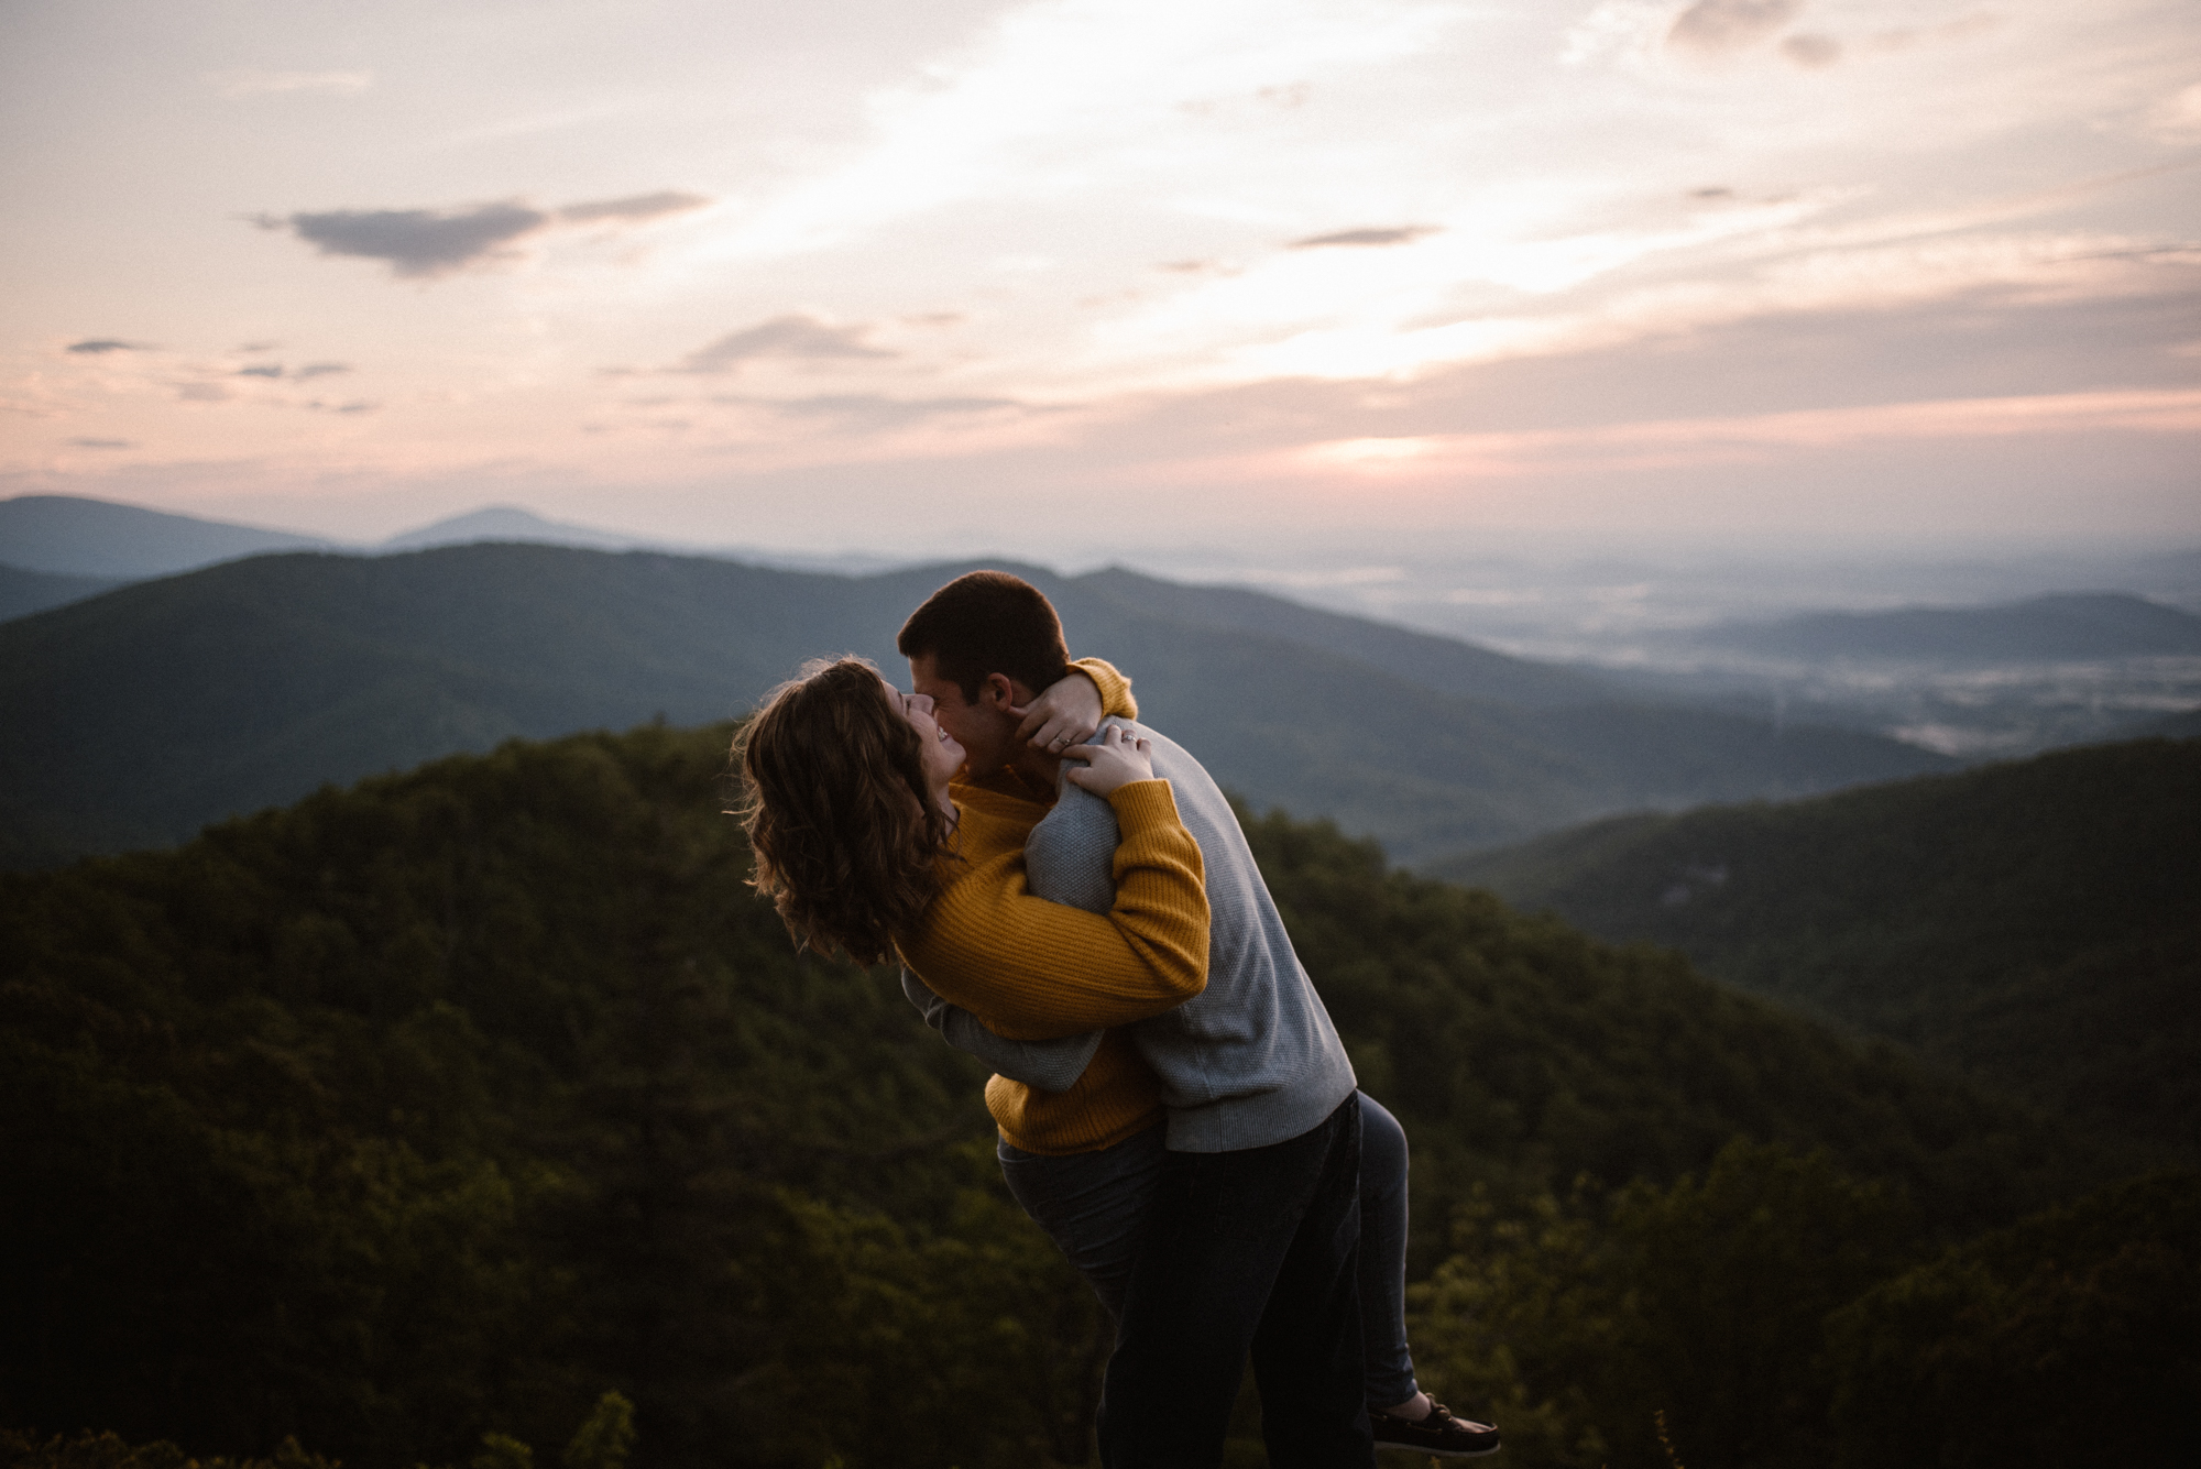
[[[2126,592],[2065,592],[2005,607],[1814,611],[1728,622],[1690,642],[1767,658],[2043,662],[2201,653],[2201,616]]]

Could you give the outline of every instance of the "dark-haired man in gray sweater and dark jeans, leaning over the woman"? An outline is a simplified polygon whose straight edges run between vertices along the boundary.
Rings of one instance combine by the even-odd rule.
[[[913,691],[966,750],[957,800],[1015,798],[1043,809],[1054,798],[1059,752],[1098,721],[1092,706],[1138,713],[1112,669],[1081,664],[1094,691],[1083,680],[1061,682],[1070,662],[1054,609],[1037,587],[1001,572],[973,572],[935,592],[911,614],[898,647]],[[1050,688],[1061,693],[1034,708]],[[1074,708],[1076,699],[1087,706]],[[1206,990],[1129,1031],[1160,1082],[1167,1148],[1153,1139],[1151,1155],[1131,1144],[1109,1150],[1127,1161],[1151,1157],[1158,1179],[1120,1295],[1100,1456],[1112,1469],[1219,1462],[1250,1352],[1270,1462],[1369,1465],[1351,1062],[1222,792],[1178,745],[1145,728],[1140,734],[1200,842],[1213,930]],[[944,954],[909,959],[953,1005],[984,1018],[997,1001],[982,976]],[[1004,1075],[988,1084],[997,1117],[1015,1113],[1019,1086]],[[1076,1163],[1032,1170],[1039,1194],[1028,1196],[1032,1181],[1019,1188],[1015,1159],[1004,1159],[1019,1199],[1076,1260],[1078,1240],[1059,1231],[1052,1212],[1061,1201],[1045,1196],[1048,1179],[1078,1177]]]

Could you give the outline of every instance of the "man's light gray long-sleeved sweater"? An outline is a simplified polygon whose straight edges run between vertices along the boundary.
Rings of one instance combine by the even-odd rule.
[[[1162,1078],[1169,1148],[1237,1152],[1299,1137],[1354,1093],[1345,1045],[1292,952],[1277,899],[1222,789],[1175,741],[1129,719],[1109,717],[1103,728],[1109,724],[1149,741],[1153,774],[1169,781],[1206,866],[1208,987],[1129,1027],[1131,1042]],[[1054,809],[1032,827],[1023,849],[1032,895],[1107,913],[1116,904],[1118,840],[1116,809],[1061,781]],[[1098,1031],[1004,1040],[907,970],[902,987],[951,1045],[1041,1091],[1067,1091],[1100,1045]]]

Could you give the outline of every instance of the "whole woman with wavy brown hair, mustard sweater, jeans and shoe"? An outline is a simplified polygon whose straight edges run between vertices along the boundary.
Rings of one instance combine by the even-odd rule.
[[[1032,1214],[1112,1313],[1162,1133],[1153,1075],[1116,1027],[1197,994],[1206,970],[1200,847],[1169,783],[1153,778],[1147,745],[1112,724],[1094,743],[1065,750],[1063,781],[1100,800],[1065,789],[1050,816],[1034,800],[962,787],[957,807],[949,783],[962,748],[931,719],[927,699],[894,693],[861,660],[806,669],[766,699],[737,745],[755,884],[797,941],[876,963],[889,952],[940,952],[946,939],[982,954],[1015,996],[984,1029],[911,985],[929,1020],[997,1069],[986,1095],[1012,1192],[1026,1199],[1019,1174],[1034,1170],[1089,1181],[1050,1190],[1081,1194],[1083,1218]],[[1043,820],[1052,825],[1037,831],[1028,888],[1026,844]],[[1098,847],[1096,822],[1107,827]],[[1072,825],[1085,836],[1065,842]],[[1037,860],[1070,849],[1098,851],[1098,860]],[[1083,906],[1045,902],[1032,888]],[[1453,1418],[1413,1383],[1400,1308],[1406,1139],[1389,1113],[1367,1097],[1362,1106],[1360,1280],[1378,1443],[1488,1454],[1492,1429]]]

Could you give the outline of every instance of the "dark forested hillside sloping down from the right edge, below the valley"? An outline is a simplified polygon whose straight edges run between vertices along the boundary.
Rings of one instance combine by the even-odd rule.
[[[1431,871],[2201,1157],[2197,814],[2201,739],[2146,739]]]

